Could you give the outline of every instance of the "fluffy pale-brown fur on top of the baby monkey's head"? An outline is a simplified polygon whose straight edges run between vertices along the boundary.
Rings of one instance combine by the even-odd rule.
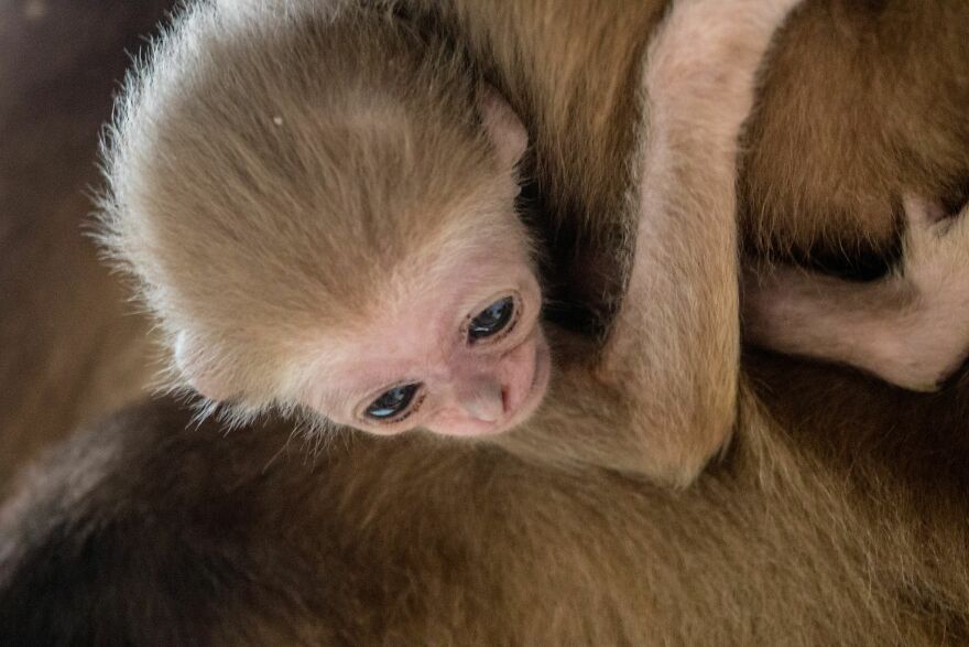
[[[470,108],[487,88],[467,61],[399,19],[324,4],[187,10],[129,79],[105,147],[102,240],[203,382],[265,384],[305,331],[370,316],[415,273],[404,263],[433,266],[471,231],[525,236],[482,226],[516,187]]]

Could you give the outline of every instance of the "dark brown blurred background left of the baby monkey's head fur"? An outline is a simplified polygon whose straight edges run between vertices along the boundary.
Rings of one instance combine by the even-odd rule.
[[[0,495],[151,378],[146,326],[83,227],[112,97],[171,4],[0,0]]]

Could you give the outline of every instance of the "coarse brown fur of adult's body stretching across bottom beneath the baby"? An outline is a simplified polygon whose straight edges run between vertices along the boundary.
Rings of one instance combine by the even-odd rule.
[[[597,395],[567,392],[536,424],[601,433],[585,413]],[[295,460],[277,455],[285,427],[229,440],[211,427],[173,435],[185,414],[149,407],[102,428],[108,438],[77,440],[39,492],[14,503],[12,517],[31,509],[44,522],[21,526],[26,540],[8,544],[8,563],[20,564],[8,591],[19,603],[23,591],[63,593],[66,602],[47,599],[61,610],[91,603],[105,634],[117,627],[160,644],[965,643],[959,401],[924,401],[955,420],[926,450],[916,407],[892,435],[856,440],[828,425],[791,432],[810,414],[777,427],[743,393],[730,453],[679,494],[426,438],[353,438],[308,471],[298,450]],[[884,449],[896,442],[908,460]],[[924,463],[913,467],[913,454]],[[900,475],[899,464],[911,470]],[[274,535],[269,549],[264,532]],[[62,587],[57,558],[77,569],[76,589]],[[0,608],[17,618],[23,607]],[[138,633],[170,617],[188,634]]]

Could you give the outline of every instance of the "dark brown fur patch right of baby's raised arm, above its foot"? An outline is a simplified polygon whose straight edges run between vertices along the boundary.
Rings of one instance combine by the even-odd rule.
[[[967,36],[959,0],[805,3],[779,39],[748,131],[741,191],[756,248],[857,268],[864,251],[893,251],[903,194],[959,211]]]

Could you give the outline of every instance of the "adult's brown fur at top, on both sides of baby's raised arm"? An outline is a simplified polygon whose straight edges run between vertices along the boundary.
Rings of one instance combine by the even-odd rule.
[[[602,285],[621,283],[622,224],[612,218],[625,181],[616,169],[633,145],[629,88],[663,3],[426,4],[471,43],[475,60],[497,61],[489,75],[536,133],[537,193],[558,215],[546,237],[560,284],[569,299],[611,312],[618,291]],[[969,197],[967,20],[960,0],[798,8],[747,129],[739,190],[749,252],[870,278],[897,254],[903,193],[959,211]]]

